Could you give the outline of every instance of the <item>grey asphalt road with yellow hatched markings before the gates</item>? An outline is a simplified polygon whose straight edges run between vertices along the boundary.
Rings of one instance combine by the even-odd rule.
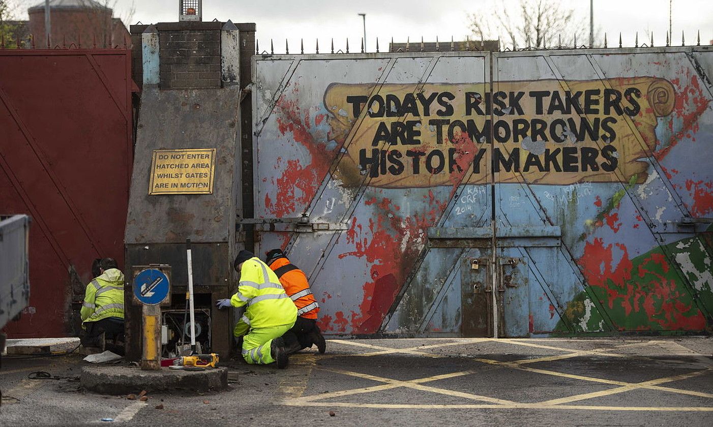
[[[230,391],[147,402],[83,391],[78,355],[4,359],[0,426],[713,426],[712,353],[702,337],[332,340],[284,371],[230,361]]]

